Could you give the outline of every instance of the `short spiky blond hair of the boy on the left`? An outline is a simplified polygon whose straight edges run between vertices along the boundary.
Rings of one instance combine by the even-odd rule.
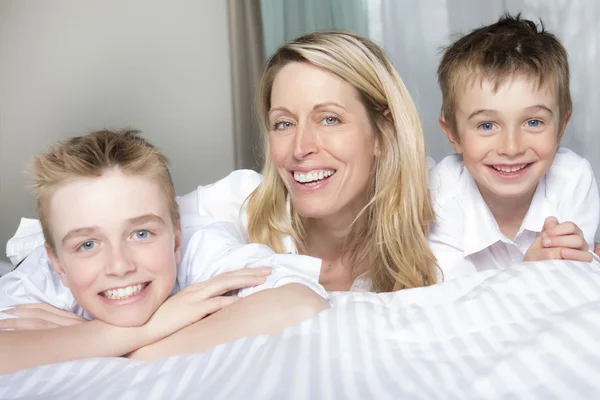
[[[179,207],[167,158],[135,130],[101,130],[72,137],[52,146],[33,159],[31,172],[37,212],[46,244],[56,251],[48,220],[52,195],[60,186],[77,178],[100,177],[118,168],[125,174],[156,179],[162,187],[173,226],[179,230]]]

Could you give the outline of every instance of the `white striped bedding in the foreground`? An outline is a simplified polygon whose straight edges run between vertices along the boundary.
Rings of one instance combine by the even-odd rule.
[[[600,268],[519,264],[398,293],[337,294],[281,334],[151,363],[0,377],[1,399],[600,398]]]

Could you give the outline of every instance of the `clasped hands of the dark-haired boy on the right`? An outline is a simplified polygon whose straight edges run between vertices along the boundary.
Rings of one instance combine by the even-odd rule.
[[[524,261],[573,260],[591,262],[592,254],[583,232],[573,222],[559,223],[555,217],[544,221],[542,233],[525,254]]]

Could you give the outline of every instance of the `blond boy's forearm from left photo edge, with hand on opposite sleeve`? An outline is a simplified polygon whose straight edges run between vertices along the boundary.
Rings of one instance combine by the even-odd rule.
[[[234,304],[237,297],[223,294],[260,285],[268,273],[264,269],[232,271],[188,286],[167,299],[140,327],[115,327],[89,321],[52,329],[0,331],[0,374],[43,364],[128,354]],[[17,307],[9,312],[22,316],[35,305],[22,307],[25,309]],[[42,310],[48,307],[39,306]],[[0,320],[0,329],[19,329],[19,324],[26,320]]]

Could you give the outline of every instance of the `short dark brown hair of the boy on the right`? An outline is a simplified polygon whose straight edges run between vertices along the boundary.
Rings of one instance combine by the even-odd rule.
[[[437,72],[442,117],[454,131],[457,87],[469,75],[489,79],[498,89],[513,74],[525,74],[536,79],[538,87],[550,84],[557,91],[561,120],[573,107],[567,51],[541,21],[538,27],[520,14],[505,14],[446,47]]]

